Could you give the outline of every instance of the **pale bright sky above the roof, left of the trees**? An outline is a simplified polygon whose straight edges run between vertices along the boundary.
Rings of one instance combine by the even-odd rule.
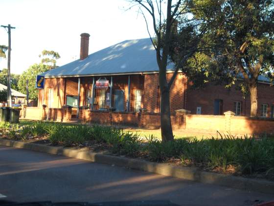
[[[59,52],[57,65],[79,59],[80,34],[89,33],[89,54],[129,39],[149,34],[137,7],[126,0],[0,0],[0,25],[11,30],[11,73],[22,74],[39,63],[43,50]],[[148,18],[149,30],[153,26]],[[0,45],[8,45],[7,31],[0,27]],[[7,52],[6,52],[7,56]],[[0,70],[7,58],[0,58]]]

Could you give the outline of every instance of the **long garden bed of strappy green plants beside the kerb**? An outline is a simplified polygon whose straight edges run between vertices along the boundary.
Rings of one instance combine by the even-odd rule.
[[[0,123],[0,132],[2,138],[12,140],[77,147],[96,153],[195,166],[203,171],[274,180],[273,137],[226,135],[220,139],[186,138],[162,143],[152,135],[144,140],[137,133],[114,127],[44,122],[25,126]]]

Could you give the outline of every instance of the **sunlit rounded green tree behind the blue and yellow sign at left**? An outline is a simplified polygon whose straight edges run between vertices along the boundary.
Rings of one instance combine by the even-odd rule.
[[[38,90],[35,87],[36,76],[50,70],[50,66],[45,64],[33,64],[19,78],[19,91],[26,94],[26,80],[28,80],[29,98],[38,100]]]

